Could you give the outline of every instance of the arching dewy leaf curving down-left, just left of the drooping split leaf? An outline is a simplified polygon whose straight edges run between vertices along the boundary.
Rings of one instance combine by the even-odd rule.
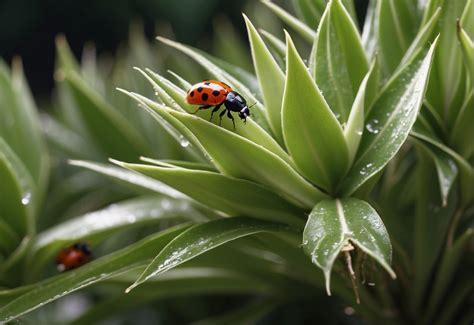
[[[126,292],[130,292],[157,274],[166,272],[229,241],[261,232],[280,231],[290,231],[290,229],[281,224],[245,217],[214,220],[193,226],[166,245]]]

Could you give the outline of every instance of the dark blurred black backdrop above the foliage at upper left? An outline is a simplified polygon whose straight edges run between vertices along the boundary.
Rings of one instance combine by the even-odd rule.
[[[250,2],[256,1],[0,0],[0,57],[9,63],[13,56],[21,56],[34,95],[48,97],[58,34],[66,36],[76,56],[87,42],[93,42],[99,54],[113,53],[127,40],[131,22],[140,21],[150,40],[157,26],[169,24],[177,40],[206,49],[213,18],[219,16],[226,16],[246,37],[241,13]],[[355,2],[363,15],[367,1]],[[267,9],[261,6],[261,10]]]

